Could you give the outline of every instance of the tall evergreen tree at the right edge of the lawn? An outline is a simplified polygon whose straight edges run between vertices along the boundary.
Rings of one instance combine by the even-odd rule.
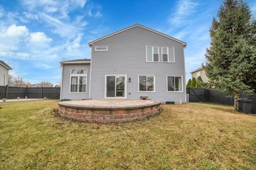
[[[205,72],[210,86],[235,95],[256,88],[256,21],[243,0],[226,0],[210,28]]]

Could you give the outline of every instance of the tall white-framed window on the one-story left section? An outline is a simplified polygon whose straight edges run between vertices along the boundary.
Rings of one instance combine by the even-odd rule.
[[[87,70],[71,70],[70,92],[86,92]]]

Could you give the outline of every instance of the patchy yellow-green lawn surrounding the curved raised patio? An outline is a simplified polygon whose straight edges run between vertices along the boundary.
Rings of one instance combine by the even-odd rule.
[[[0,103],[0,169],[256,169],[256,116],[230,106],[105,125],[62,120],[57,103]]]

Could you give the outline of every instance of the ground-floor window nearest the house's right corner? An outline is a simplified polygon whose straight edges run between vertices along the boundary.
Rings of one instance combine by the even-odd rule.
[[[182,92],[182,77],[167,76],[167,92]]]

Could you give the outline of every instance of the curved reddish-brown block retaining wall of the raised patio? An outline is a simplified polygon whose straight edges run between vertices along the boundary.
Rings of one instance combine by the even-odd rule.
[[[147,104],[134,107],[90,107],[59,103],[59,114],[71,120],[119,123],[142,120],[161,111],[161,103]]]

